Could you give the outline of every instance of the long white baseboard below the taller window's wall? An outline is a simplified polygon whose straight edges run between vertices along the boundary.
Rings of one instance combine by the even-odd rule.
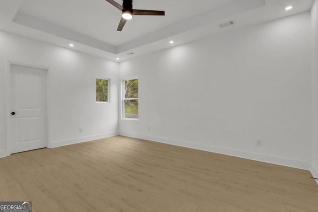
[[[172,140],[172,139],[166,139],[166,138],[152,137],[152,136],[139,135],[139,134],[133,134],[133,133],[121,132],[120,135],[137,138],[137,139],[167,143],[167,144],[172,144],[177,146],[183,146],[183,147],[188,147],[193,149],[199,149],[199,150],[204,150],[209,152],[215,152],[220,154],[226,154],[226,155],[231,155],[235,157],[241,157],[241,158],[257,160],[261,162],[273,163],[277,165],[289,166],[289,167],[305,169],[305,170],[311,170],[311,166],[312,166],[311,163],[308,161],[295,160],[292,158],[284,158],[284,157],[259,154],[259,153],[248,152],[248,151],[241,151],[237,149],[230,149],[230,148],[224,148],[219,146],[212,146],[212,145],[206,145],[206,144],[200,144],[200,143],[192,143],[188,141],[179,141],[179,140]]]

